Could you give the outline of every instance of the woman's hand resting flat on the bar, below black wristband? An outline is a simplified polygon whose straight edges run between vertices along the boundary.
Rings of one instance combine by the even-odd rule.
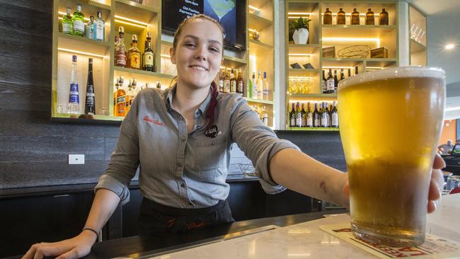
[[[40,259],[44,256],[55,256],[57,259],[81,258],[88,255],[96,238],[96,234],[91,231],[82,231],[78,236],[63,241],[35,243],[22,259]]]

